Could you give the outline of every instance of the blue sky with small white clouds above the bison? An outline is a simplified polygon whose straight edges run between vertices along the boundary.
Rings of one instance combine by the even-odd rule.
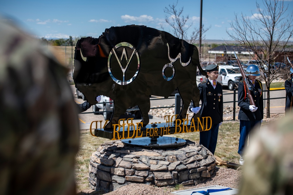
[[[262,6],[262,0],[258,0]],[[123,25],[146,25],[172,33],[165,22],[164,8],[176,0],[6,0],[0,4],[0,14],[16,19],[23,28],[38,37],[69,38],[99,37],[106,28]],[[284,4],[293,9],[293,0]],[[177,10],[189,15],[193,27],[200,25],[200,0],[178,0]],[[229,40],[226,30],[235,13],[252,16],[257,13],[256,0],[203,0],[202,24],[211,27],[205,39]],[[288,12],[289,13],[289,12]],[[161,28],[163,25],[164,29]]]

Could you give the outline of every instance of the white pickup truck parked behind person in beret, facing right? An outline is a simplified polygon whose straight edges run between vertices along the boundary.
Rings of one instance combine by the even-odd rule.
[[[242,80],[240,68],[233,65],[221,65],[219,66],[219,76],[217,81],[222,86],[227,86],[229,90],[234,90],[238,87],[238,83]]]

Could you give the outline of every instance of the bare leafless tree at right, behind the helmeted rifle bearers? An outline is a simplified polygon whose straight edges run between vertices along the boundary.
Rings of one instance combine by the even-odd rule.
[[[284,55],[286,46],[292,38],[292,15],[285,15],[288,6],[284,7],[284,1],[263,0],[264,8],[256,2],[258,13],[253,17],[247,17],[241,13],[239,18],[235,14],[234,21],[230,24],[233,33],[226,31],[239,45],[253,51],[260,65],[266,88],[270,89],[271,82],[280,77],[279,68],[274,67],[274,62],[280,55]],[[270,118],[270,91],[267,93],[267,117]]]

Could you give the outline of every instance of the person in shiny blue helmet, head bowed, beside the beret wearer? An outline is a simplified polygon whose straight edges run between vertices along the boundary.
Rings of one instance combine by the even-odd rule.
[[[240,120],[240,138],[238,153],[240,154],[240,164],[244,163],[243,149],[246,147],[248,141],[248,135],[251,129],[260,130],[260,125],[263,120],[263,94],[262,84],[256,77],[259,76],[259,69],[256,65],[249,65],[246,69],[246,76],[251,85],[251,95],[253,97],[255,107],[250,105],[247,95],[247,88],[244,85],[243,80],[240,81],[238,86],[238,106],[240,107],[238,119]]]

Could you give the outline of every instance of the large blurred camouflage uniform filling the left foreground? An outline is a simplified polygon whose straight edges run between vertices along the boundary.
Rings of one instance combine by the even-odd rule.
[[[67,70],[0,18],[0,194],[75,194],[79,124]]]

